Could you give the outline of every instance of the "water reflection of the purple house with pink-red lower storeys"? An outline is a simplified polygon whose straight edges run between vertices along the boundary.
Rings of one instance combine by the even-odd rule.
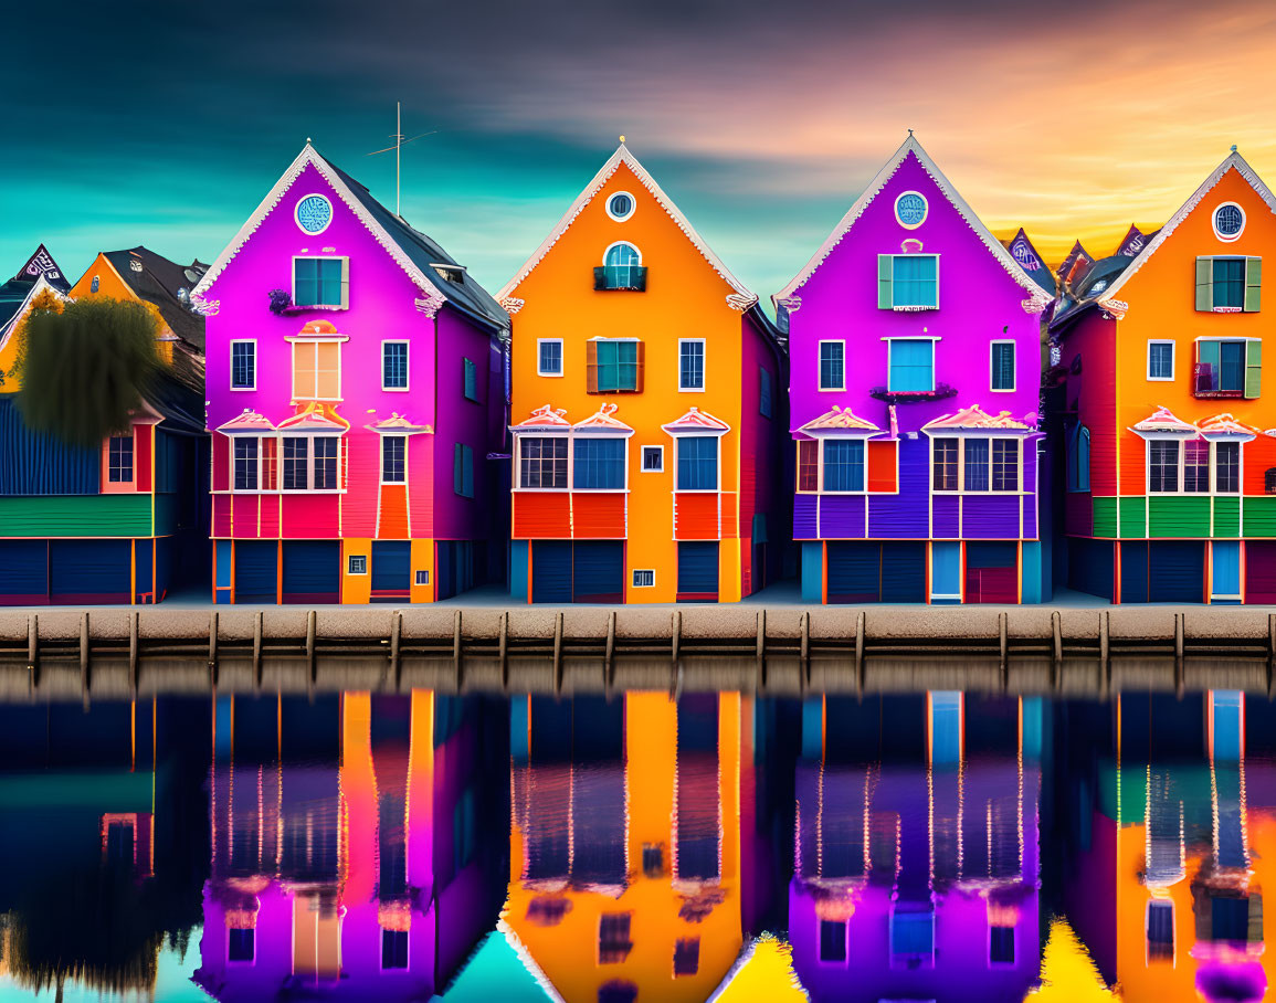
[[[477,846],[482,708],[427,690],[219,703],[195,981],[221,1000],[439,992],[499,906]]]

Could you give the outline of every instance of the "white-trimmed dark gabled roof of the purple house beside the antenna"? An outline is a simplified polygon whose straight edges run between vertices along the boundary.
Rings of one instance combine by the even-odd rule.
[[[262,199],[248,222],[240,227],[235,239],[209,265],[207,274],[195,288],[200,297],[212,288],[226,265],[256,232],[262,221],[279,204],[306,167],[314,167],[320,174],[350,211],[367,227],[376,242],[385,248],[398,265],[407,272],[426,300],[435,304],[435,309],[444,302],[450,302],[462,313],[482,320],[493,328],[505,329],[509,327],[509,315],[500,308],[500,304],[487,295],[486,290],[471,278],[470,273],[456,259],[434,240],[419,230],[413,230],[402,217],[382,205],[364,185],[319,156],[310,143],[305,144],[288,170],[276,181],[274,188]],[[444,278],[435,265],[453,265],[452,272],[458,281]]]

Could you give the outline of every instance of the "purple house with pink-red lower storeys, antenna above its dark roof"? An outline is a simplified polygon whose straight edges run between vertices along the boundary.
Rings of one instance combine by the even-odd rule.
[[[193,299],[216,602],[430,602],[484,577],[508,318],[464,265],[306,144]]]

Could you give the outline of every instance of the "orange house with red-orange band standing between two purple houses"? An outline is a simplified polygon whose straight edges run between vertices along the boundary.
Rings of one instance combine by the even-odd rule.
[[[500,297],[513,596],[735,601],[773,581],[782,348],[624,143]]]

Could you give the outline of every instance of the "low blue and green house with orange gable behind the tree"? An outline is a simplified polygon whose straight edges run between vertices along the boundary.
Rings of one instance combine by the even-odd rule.
[[[158,278],[181,267],[144,248],[100,254],[69,292],[43,258],[4,287],[26,293],[0,324],[0,605],[158,602],[207,551],[203,316]],[[122,258],[128,281],[108,265]],[[147,302],[168,364],[130,427],[92,449],[32,431],[18,407],[27,318],[80,295]]]

